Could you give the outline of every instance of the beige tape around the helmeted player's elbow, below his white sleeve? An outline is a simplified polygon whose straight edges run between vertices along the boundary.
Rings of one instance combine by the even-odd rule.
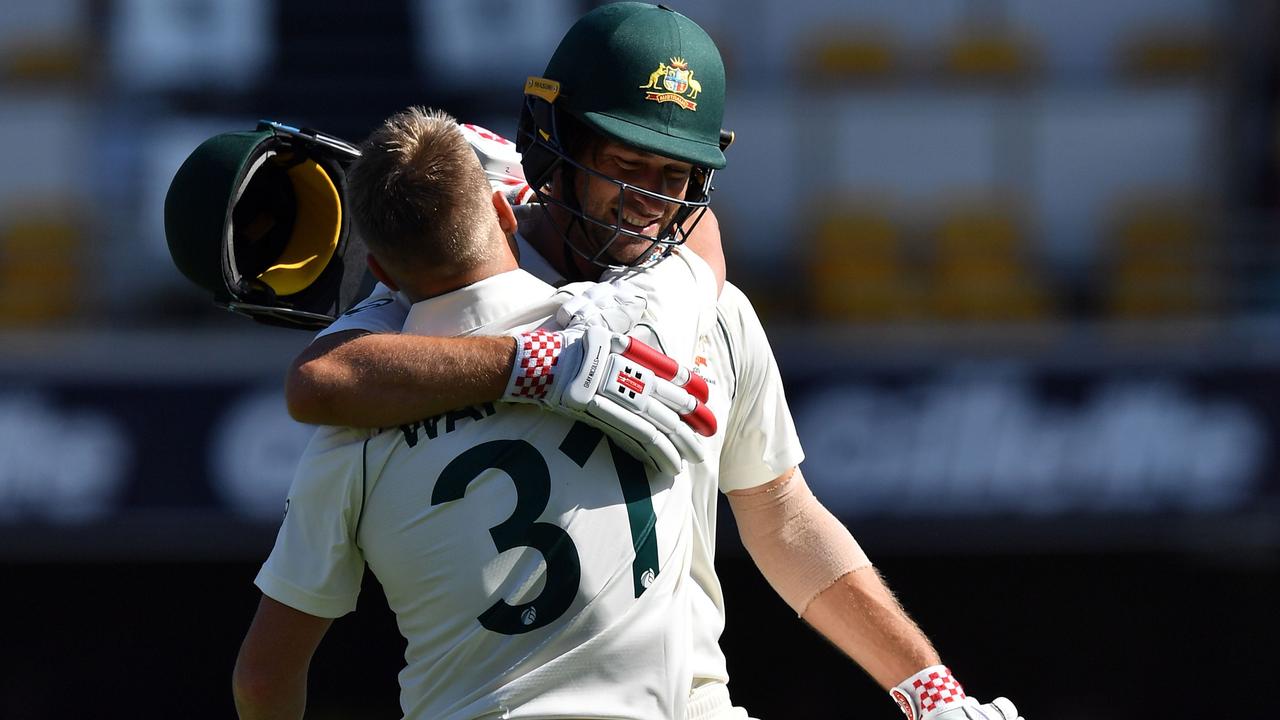
[[[781,483],[727,497],[751,560],[796,615],[832,583],[872,564],[799,470]]]

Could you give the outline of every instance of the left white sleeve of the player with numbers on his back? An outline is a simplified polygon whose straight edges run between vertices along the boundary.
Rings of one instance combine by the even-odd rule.
[[[275,547],[253,580],[268,597],[317,618],[356,609],[365,560],[364,437],[320,428],[298,462]]]

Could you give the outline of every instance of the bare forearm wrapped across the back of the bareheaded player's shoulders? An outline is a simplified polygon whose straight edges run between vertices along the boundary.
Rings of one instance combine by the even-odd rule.
[[[498,400],[513,355],[509,337],[338,333],[294,360],[285,400],[303,423],[401,425]]]

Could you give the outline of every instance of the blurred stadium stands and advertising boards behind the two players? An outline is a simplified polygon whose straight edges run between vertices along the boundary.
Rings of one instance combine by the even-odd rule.
[[[215,311],[160,208],[257,118],[508,136],[581,0],[0,1],[0,717],[228,717],[307,430],[305,333]],[[714,199],[819,497],[969,691],[1033,720],[1271,711],[1280,3],[687,0]],[[724,515],[737,700],[896,717]],[[312,717],[394,717],[375,584]]]

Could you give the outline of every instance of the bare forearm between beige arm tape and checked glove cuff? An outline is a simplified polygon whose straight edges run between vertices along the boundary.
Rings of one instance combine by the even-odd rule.
[[[874,568],[836,580],[809,603],[804,619],[884,689],[941,662]]]

